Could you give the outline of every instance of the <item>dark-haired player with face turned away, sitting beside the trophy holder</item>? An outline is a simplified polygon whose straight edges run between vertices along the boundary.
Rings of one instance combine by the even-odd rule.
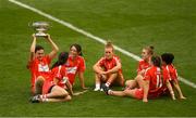
[[[42,94],[38,94],[32,97],[32,103],[39,102],[66,102],[71,100],[73,95],[72,84],[68,80],[65,66],[69,57],[68,52],[61,52],[59,60],[53,64],[50,78],[46,79],[42,86]],[[65,90],[70,91],[70,93]]]

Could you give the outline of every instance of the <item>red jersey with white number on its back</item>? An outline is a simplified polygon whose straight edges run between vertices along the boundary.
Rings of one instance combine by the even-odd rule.
[[[148,97],[158,97],[163,93],[166,88],[166,80],[169,79],[168,71],[163,68],[152,66],[145,73],[144,80],[149,80]]]

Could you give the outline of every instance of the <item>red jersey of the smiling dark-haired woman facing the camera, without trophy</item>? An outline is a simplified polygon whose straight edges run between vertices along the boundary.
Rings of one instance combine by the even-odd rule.
[[[76,74],[78,71],[84,73],[86,69],[85,60],[82,56],[77,56],[75,60],[73,60],[72,56],[69,56],[65,67],[70,83],[73,84]]]

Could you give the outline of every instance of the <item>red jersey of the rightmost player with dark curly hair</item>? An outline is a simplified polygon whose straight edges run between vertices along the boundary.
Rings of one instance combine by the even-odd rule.
[[[170,80],[177,80],[177,71],[172,64],[163,66],[163,67],[166,67],[167,71],[169,74]]]

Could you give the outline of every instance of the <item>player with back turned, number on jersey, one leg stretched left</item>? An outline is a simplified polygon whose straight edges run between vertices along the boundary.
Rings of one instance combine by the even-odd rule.
[[[161,67],[161,58],[159,56],[152,56],[150,65],[151,67],[149,67],[144,75],[143,88],[112,91],[102,84],[103,91],[108,95],[132,96],[138,100],[143,99],[143,102],[148,102],[148,99],[157,99],[161,96],[164,93],[163,88],[167,87],[170,91],[172,100],[175,100],[174,92],[169,82],[169,74]]]

